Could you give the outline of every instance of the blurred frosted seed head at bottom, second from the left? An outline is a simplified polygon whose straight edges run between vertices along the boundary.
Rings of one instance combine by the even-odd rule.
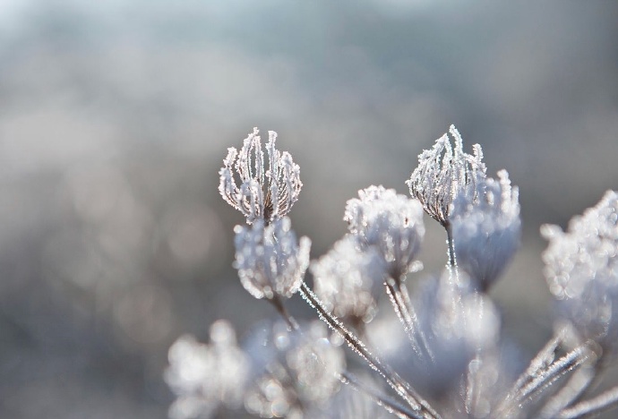
[[[320,405],[339,390],[337,376],[345,369],[345,355],[330,343],[321,321],[292,331],[274,323],[253,340],[255,380],[245,394],[249,413],[291,417],[301,406]]]

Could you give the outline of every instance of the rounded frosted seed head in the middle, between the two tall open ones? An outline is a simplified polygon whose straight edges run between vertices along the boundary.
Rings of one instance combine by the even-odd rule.
[[[370,186],[358,196],[348,201],[343,219],[361,244],[378,250],[388,274],[399,280],[416,268],[425,235],[423,209],[418,201],[383,186]]]

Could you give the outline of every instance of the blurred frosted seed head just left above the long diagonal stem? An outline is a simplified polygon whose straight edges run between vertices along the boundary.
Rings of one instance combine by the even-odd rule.
[[[361,252],[346,235],[319,261],[311,263],[315,294],[339,319],[371,321],[382,290],[382,264],[375,252]]]

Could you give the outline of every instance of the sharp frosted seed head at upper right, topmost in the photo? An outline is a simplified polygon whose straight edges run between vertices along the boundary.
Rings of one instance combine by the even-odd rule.
[[[410,194],[443,227],[449,225],[451,202],[461,193],[474,194],[486,170],[481,146],[475,144],[473,154],[466,154],[455,125],[451,125],[450,132],[455,146],[451,146],[448,134],[442,135],[432,150],[424,150],[418,156],[418,167],[406,182]]]

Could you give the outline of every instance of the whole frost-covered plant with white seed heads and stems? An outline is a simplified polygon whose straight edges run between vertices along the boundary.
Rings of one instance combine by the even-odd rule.
[[[225,321],[214,323],[208,345],[179,338],[166,372],[177,396],[170,417],[208,418],[242,405],[251,415],[298,419],[567,418],[618,405],[618,388],[588,396],[618,353],[618,193],[607,192],[567,232],[542,228],[559,315],[554,337],[517,377],[516,349],[502,339],[489,291],[519,245],[518,189],[506,170],[487,177],[481,147],[467,154],[454,126],[450,133],[454,145],[444,134],[418,157],[407,182],[412,198],[370,186],[348,201],[349,233],[311,263],[315,292],[305,282],[310,241],[296,240],[287,217],[302,186],[298,166],[275,148],[273,132],[268,169],[257,129],[239,152],[228,150],[219,192],[247,223],[235,227],[234,266],[283,321],[258,327],[242,347]],[[442,275],[410,295],[406,279],[422,266],[423,210],[444,227],[449,257]],[[375,322],[380,288],[400,333]],[[330,334],[289,315],[295,294]],[[370,340],[388,344],[381,356]],[[369,368],[346,362],[344,343]]]

